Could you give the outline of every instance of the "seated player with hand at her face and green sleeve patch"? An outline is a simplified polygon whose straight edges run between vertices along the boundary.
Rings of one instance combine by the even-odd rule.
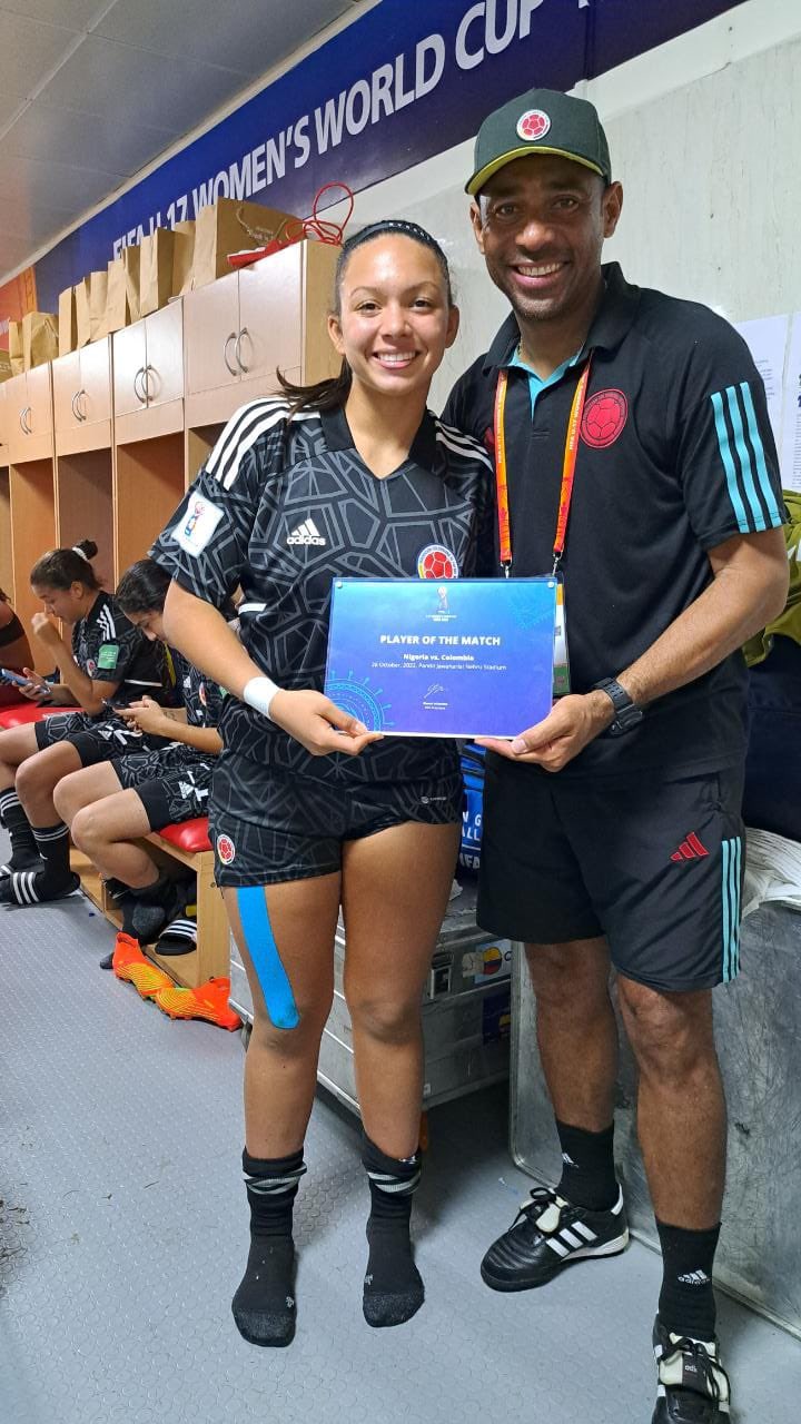
[[[31,627],[58,665],[61,682],[44,682],[26,668],[30,681],[21,691],[34,702],[74,703],[81,711],[0,732],[0,820],[11,836],[0,901],[10,904],[57,900],[77,889],[78,877],[70,873],[70,832],[56,815],[53,790],[78,766],[141,748],[143,733],[128,728],[114,709],[145,692],[164,695],[161,651],[101,590],[90,562],[95,554],[91,540],[57,548],[44,554],[30,575],[46,609],[33,615]],[[54,618],[71,627],[71,646]]]

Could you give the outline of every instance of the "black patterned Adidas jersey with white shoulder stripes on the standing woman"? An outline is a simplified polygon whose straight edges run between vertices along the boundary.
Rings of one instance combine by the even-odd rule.
[[[322,691],[332,580],[418,578],[432,551],[453,574],[489,572],[479,548],[492,550],[492,491],[483,446],[429,413],[403,464],[378,480],[342,410],[289,419],[285,400],[257,400],[231,419],[151,555],[217,608],[241,584],[239,637],[257,666],[281,688]],[[456,755],[386,738],[359,758],[314,758],[237,698],[219,729],[222,762],[235,752],[345,783],[440,776]]]

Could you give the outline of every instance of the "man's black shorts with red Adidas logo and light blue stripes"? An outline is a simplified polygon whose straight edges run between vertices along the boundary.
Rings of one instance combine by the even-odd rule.
[[[606,936],[663,993],[740,967],[743,772],[567,778],[487,753],[477,920],[529,944]]]

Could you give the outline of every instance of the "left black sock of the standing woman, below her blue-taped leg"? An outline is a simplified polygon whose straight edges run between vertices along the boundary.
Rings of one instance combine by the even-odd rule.
[[[237,1330],[251,1344],[291,1344],[295,1334],[295,1246],[292,1206],[306,1171],[304,1152],[252,1158],[242,1168],[251,1203],[251,1250],[231,1302]]]

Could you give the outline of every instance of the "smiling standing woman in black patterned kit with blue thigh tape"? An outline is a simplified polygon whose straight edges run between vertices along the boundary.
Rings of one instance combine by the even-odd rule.
[[[170,641],[235,693],[211,832],[254,997],[251,1252],[232,1309],[257,1344],[295,1330],[292,1203],[341,910],[372,1199],[365,1319],[400,1324],[423,1300],[409,1240],[420,998],[459,844],[459,759],[446,740],[376,739],[321,688],[332,578],[416,578],[432,551],[453,575],[475,571],[492,466],[426,412],[456,329],[428,232],[388,221],[358,234],[329,316],[341,376],[306,390],[284,380],[285,399],[242,407],[153,551],[174,578]],[[241,642],[217,611],[237,584]]]

